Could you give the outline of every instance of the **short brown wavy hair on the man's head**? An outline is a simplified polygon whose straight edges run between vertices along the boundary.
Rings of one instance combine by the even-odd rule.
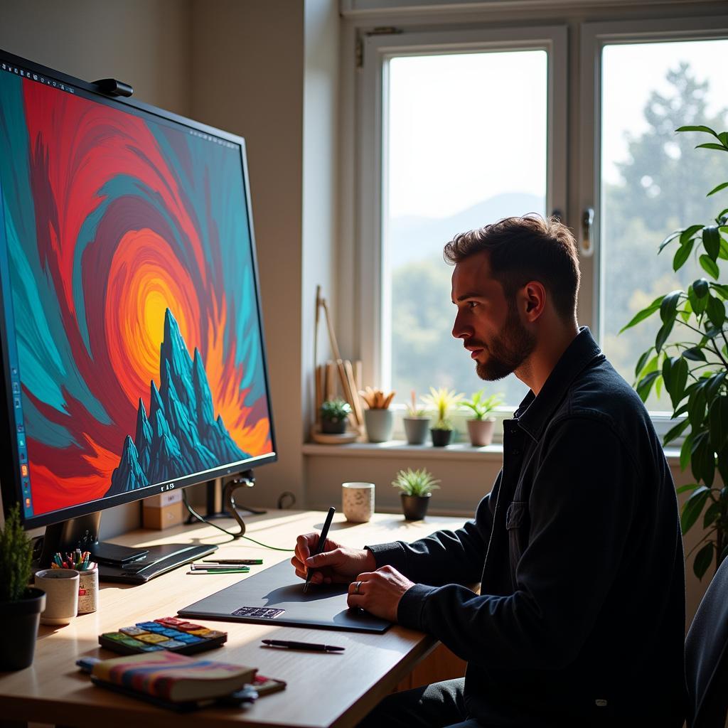
[[[443,257],[455,265],[481,250],[488,250],[493,277],[506,298],[531,280],[541,282],[563,319],[576,315],[579,292],[579,256],[569,228],[558,218],[529,214],[503,218],[485,227],[462,232],[448,242]]]

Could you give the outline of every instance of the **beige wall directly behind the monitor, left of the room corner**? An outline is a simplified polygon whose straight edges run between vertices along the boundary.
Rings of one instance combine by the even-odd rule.
[[[0,1],[0,48],[87,81],[122,79],[135,98],[189,116],[188,0]],[[103,515],[102,537],[139,523],[138,503]]]

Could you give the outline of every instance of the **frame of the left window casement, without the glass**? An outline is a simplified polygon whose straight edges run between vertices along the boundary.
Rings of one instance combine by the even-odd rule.
[[[386,281],[384,250],[384,116],[387,63],[406,55],[448,52],[545,50],[547,60],[546,209],[566,213],[567,144],[567,28],[534,25],[437,29],[426,32],[363,36],[363,66],[357,85],[357,223],[355,261],[358,271],[355,297],[358,309],[358,344],[364,381],[389,387],[391,302]]]

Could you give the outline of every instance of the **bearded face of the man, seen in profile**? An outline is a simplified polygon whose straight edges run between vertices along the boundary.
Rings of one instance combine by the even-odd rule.
[[[520,367],[536,341],[491,277],[489,253],[475,253],[455,266],[452,300],[457,306],[453,336],[462,339],[480,379],[503,379]]]

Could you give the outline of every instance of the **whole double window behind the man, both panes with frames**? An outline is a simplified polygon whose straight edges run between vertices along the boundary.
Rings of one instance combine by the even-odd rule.
[[[689,16],[689,4],[673,14],[680,9]],[[701,157],[692,148],[705,140],[674,133],[682,124],[728,128],[728,15],[644,14],[655,17],[566,18],[569,33],[553,25],[364,35],[356,189],[365,380],[391,385],[400,402],[432,384],[486,386],[517,404],[520,382],[480,381],[451,339],[441,251],[454,234],[502,216],[556,210],[580,246],[579,323],[633,380],[656,328],[618,332],[700,272],[676,275],[657,247],[726,207],[705,193],[728,179],[728,159]],[[654,393],[648,406],[669,409]]]

